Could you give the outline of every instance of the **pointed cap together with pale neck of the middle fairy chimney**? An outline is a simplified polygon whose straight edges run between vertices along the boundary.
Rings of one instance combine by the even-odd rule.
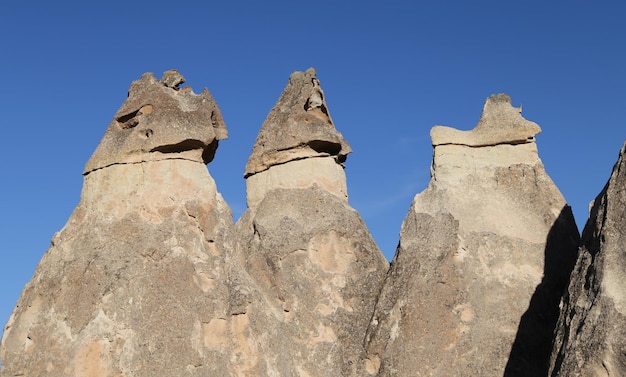
[[[313,68],[294,72],[256,139],[246,171],[248,206],[277,187],[316,184],[348,199],[342,163],[352,151],[335,128]]]

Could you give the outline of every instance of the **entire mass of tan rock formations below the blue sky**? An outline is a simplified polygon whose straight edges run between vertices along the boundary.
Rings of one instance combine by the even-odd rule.
[[[184,81],[131,85],[4,329],[1,376],[626,375],[626,145],[579,249],[539,126],[491,96],[473,130],[431,130],[389,266],[348,205],[315,70],[263,123],[236,225],[205,166],[222,115]]]

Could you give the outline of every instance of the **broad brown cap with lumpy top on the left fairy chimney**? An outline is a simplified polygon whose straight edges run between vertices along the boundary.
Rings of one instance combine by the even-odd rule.
[[[228,136],[226,125],[211,93],[179,89],[184,82],[176,70],[165,72],[160,81],[152,73],[134,81],[83,174],[170,158],[211,162],[218,140]]]

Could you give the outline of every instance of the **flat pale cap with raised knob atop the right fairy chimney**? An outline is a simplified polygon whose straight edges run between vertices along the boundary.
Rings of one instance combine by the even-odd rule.
[[[461,131],[446,126],[435,126],[430,131],[433,146],[443,144],[472,147],[522,144],[535,141],[541,128],[521,115],[522,108],[511,105],[511,97],[494,94],[487,98],[478,125],[471,131]]]

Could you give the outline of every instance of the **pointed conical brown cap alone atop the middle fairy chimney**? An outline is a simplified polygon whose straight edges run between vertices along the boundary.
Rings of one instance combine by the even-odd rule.
[[[294,72],[261,126],[244,176],[307,157],[334,156],[338,163],[352,152],[328,112],[315,70]]]

